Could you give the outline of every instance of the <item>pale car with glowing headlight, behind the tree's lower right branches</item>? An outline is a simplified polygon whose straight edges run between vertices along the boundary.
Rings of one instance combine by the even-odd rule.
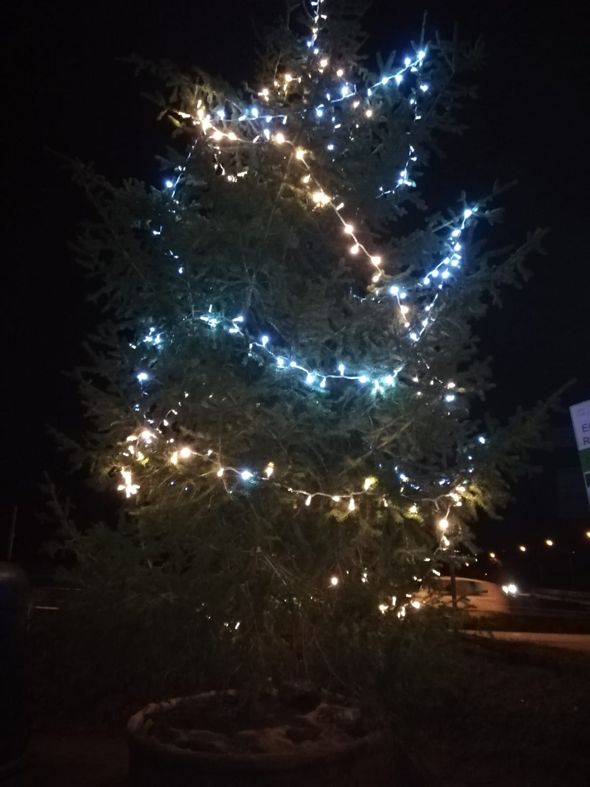
[[[457,577],[455,582],[457,607],[470,615],[510,612],[509,596],[517,592],[514,585],[505,586],[504,589],[495,582],[485,582],[484,579]],[[451,607],[451,578],[435,578],[431,587],[421,588],[415,593],[411,604],[414,608],[421,608],[422,605]]]

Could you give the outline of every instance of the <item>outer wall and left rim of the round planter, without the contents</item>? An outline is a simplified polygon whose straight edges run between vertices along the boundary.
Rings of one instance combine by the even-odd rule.
[[[190,712],[195,704],[201,708],[219,697],[236,698],[234,692],[211,692],[184,697],[160,704],[150,704],[128,722],[131,785],[135,787],[396,787],[410,782],[400,777],[397,748],[388,733],[374,730],[356,737],[322,742],[303,732],[287,728],[286,750],[253,753],[236,751],[233,741],[254,736],[255,730],[242,730],[233,738],[208,730],[175,730],[174,742],[164,741],[162,725],[171,730],[165,719],[175,719]],[[335,706],[323,706],[334,708]],[[302,718],[302,717],[297,717]],[[214,719],[212,719],[214,722]],[[215,729],[215,724],[212,724]],[[158,731],[160,730],[160,731]],[[262,734],[285,734],[285,726],[258,730]],[[191,737],[192,735],[192,737]],[[239,738],[242,736],[242,738]],[[230,747],[218,739],[229,740]],[[198,751],[195,748],[209,748]],[[223,751],[223,748],[226,748]],[[272,748],[272,747],[271,747]],[[280,747],[279,747],[280,748]],[[217,751],[216,751],[217,749]],[[396,762],[397,760],[397,762]],[[404,769],[405,770],[405,767]]]

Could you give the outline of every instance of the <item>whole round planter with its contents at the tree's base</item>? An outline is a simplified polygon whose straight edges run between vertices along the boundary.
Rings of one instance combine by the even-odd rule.
[[[394,787],[396,747],[342,698],[234,691],[150,704],[127,724],[135,787]],[[404,780],[405,783],[405,780]]]

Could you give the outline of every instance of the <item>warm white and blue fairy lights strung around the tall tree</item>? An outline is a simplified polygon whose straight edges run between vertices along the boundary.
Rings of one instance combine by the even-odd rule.
[[[319,46],[319,28],[321,20],[326,19],[326,14],[322,13],[323,0],[315,0],[311,2],[312,6],[312,36],[306,42],[310,56],[308,57],[308,65],[304,71],[309,78],[312,77],[312,70],[315,69],[320,75],[333,74],[335,87],[326,91],[323,101],[310,110],[301,110],[301,112],[311,112],[315,120],[322,122],[328,119],[333,124],[334,141],[329,142],[326,146],[328,152],[333,152],[337,149],[337,139],[339,130],[342,128],[340,120],[335,114],[330,113],[330,108],[336,104],[345,103],[348,109],[356,113],[356,120],[354,123],[356,128],[360,127],[360,123],[371,122],[371,118],[376,117],[374,107],[371,105],[371,98],[379,91],[384,90],[386,87],[389,89],[399,88],[403,83],[404,77],[409,73],[415,78],[415,87],[410,91],[410,98],[407,99],[412,110],[413,123],[416,124],[422,119],[419,97],[426,94],[429,90],[429,85],[422,80],[422,65],[426,59],[427,50],[420,49],[414,58],[406,57],[404,59],[404,66],[397,69],[390,75],[383,76],[377,83],[370,87],[365,87],[363,91],[359,91],[353,82],[345,79],[344,68],[340,65],[330,64],[330,58],[324,56]],[[305,73],[297,76],[286,73],[281,77],[275,79],[274,88],[276,95],[281,95],[282,98],[291,87],[300,84],[304,79]],[[282,82],[281,82],[282,79]],[[389,87],[388,87],[389,86]],[[403,94],[398,90],[399,98],[404,98]],[[258,144],[267,144],[284,147],[292,153],[290,159],[296,161],[301,167],[300,183],[302,187],[308,190],[310,203],[313,210],[328,209],[332,216],[335,217],[337,222],[341,224],[342,232],[349,242],[348,252],[353,257],[364,257],[370,264],[372,271],[371,282],[374,285],[371,297],[373,299],[383,300],[391,298],[393,304],[396,305],[398,315],[403,320],[404,327],[407,329],[407,338],[411,342],[419,342],[422,334],[436,319],[433,316],[433,307],[436,304],[437,298],[443,290],[444,284],[451,283],[453,274],[460,268],[463,256],[461,236],[466,230],[466,227],[475,220],[478,212],[478,205],[471,205],[466,207],[463,212],[451,222],[442,225],[442,230],[448,233],[444,242],[445,252],[441,255],[441,259],[437,260],[430,271],[426,273],[418,282],[408,282],[406,286],[394,284],[385,286],[384,279],[384,260],[378,249],[370,248],[369,242],[363,241],[362,236],[356,230],[355,224],[352,220],[345,217],[345,202],[338,197],[337,194],[330,194],[330,189],[325,187],[322,183],[322,178],[315,171],[315,164],[312,157],[309,156],[308,151],[304,148],[298,147],[292,140],[288,138],[289,135],[289,120],[292,116],[289,113],[274,114],[271,111],[271,98],[273,98],[273,91],[268,87],[263,87],[258,92],[260,101],[259,105],[253,106],[237,106],[232,104],[232,112],[228,113],[225,105],[223,108],[209,111],[203,103],[202,99],[197,100],[194,114],[181,113],[179,116],[185,120],[190,120],[193,127],[199,131],[196,134],[193,142],[188,150],[186,161],[183,165],[176,168],[177,174],[173,179],[168,179],[165,183],[166,190],[168,190],[171,200],[175,205],[179,204],[176,199],[176,193],[183,182],[186,169],[190,164],[190,157],[193,155],[197,143],[202,141],[212,150],[216,155],[216,161],[219,163],[220,176],[227,179],[230,183],[237,183],[239,178],[248,175],[245,169],[242,172],[235,174],[227,173],[223,164],[219,160],[218,154],[222,152],[225,146],[229,149],[230,146],[254,146]],[[337,122],[338,121],[338,122]],[[277,126],[280,128],[277,130]],[[229,129],[229,130],[228,130]],[[248,136],[248,132],[253,135]],[[348,129],[350,134],[350,129]],[[335,155],[335,154],[334,154]],[[332,161],[335,161],[333,158]],[[400,188],[415,187],[414,180],[411,179],[411,167],[418,161],[414,146],[408,146],[407,160],[404,167],[400,170],[396,183],[393,186],[385,188],[380,187],[376,199],[385,198],[388,194],[393,194]],[[154,229],[153,235],[162,235],[162,227]],[[165,239],[165,238],[163,238]],[[174,260],[179,260],[179,256],[173,250],[169,251],[170,256]],[[182,260],[178,261],[178,274],[185,273],[185,267]],[[410,294],[414,293],[416,297],[415,305],[411,304]],[[422,310],[422,315],[420,315]],[[300,360],[295,360],[292,357],[286,356],[279,351],[275,352],[272,349],[272,339],[267,334],[260,337],[253,337],[249,333],[246,325],[245,318],[242,315],[233,318],[216,314],[212,310],[212,305],[208,305],[200,315],[198,320],[204,323],[211,329],[222,328],[229,334],[233,334],[236,338],[241,338],[247,342],[249,353],[252,354],[256,351],[258,355],[263,355],[275,364],[277,370],[283,372],[293,371],[302,375],[304,382],[308,386],[313,386],[317,390],[326,390],[329,382],[334,379],[353,381],[360,386],[367,386],[371,388],[372,393],[382,394],[391,390],[395,384],[400,371],[403,366],[397,366],[390,370],[380,371],[378,374],[374,372],[349,370],[345,364],[340,363],[337,369],[326,370],[319,368],[309,368],[307,364],[302,363]],[[153,345],[161,345],[163,342],[162,334],[157,332],[155,327],[149,329],[149,333],[143,339],[144,342]],[[136,347],[136,345],[131,345]],[[138,371],[137,380],[140,386],[146,386],[149,382],[150,375],[147,371]],[[412,382],[419,383],[418,375],[412,376]],[[430,384],[434,384],[435,380],[431,379]],[[441,398],[444,403],[450,405],[455,401],[455,382],[437,380],[441,386]],[[421,396],[422,391],[419,387],[416,389],[416,395]],[[185,393],[188,397],[188,393]],[[182,402],[179,401],[179,407],[182,407]],[[137,409],[137,408],[136,408]],[[168,412],[178,415],[176,409],[171,409]],[[141,488],[138,483],[134,481],[132,471],[129,468],[130,460],[135,460],[140,464],[146,464],[149,461],[150,455],[154,450],[159,450],[161,445],[164,445],[165,450],[168,451],[168,462],[172,467],[179,467],[180,465],[187,466],[191,460],[200,460],[207,468],[205,475],[211,475],[212,478],[218,478],[220,482],[226,484],[227,478],[234,478],[235,482],[242,484],[251,484],[253,482],[264,482],[267,484],[281,487],[283,490],[293,493],[297,497],[301,497],[306,506],[312,504],[315,498],[327,499],[336,504],[342,503],[348,507],[349,511],[354,511],[357,506],[358,498],[364,495],[372,496],[377,499],[380,504],[388,507],[389,501],[385,496],[378,492],[378,479],[373,476],[365,478],[362,488],[356,490],[347,490],[345,492],[337,491],[334,493],[324,491],[310,491],[304,489],[296,489],[289,486],[288,483],[283,482],[281,478],[277,478],[277,469],[273,462],[268,462],[264,467],[258,469],[254,467],[233,467],[223,464],[222,457],[213,449],[208,449],[206,452],[197,451],[190,445],[176,445],[175,438],[166,438],[164,433],[158,428],[153,426],[153,421],[146,418],[151,428],[142,428],[134,434],[127,437],[127,442],[123,451],[123,456],[127,460],[127,464],[120,469],[121,482],[118,489],[125,493],[127,498],[133,497],[138,493]],[[163,425],[168,426],[168,421],[164,419]],[[477,441],[480,444],[485,444],[485,438],[479,435]],[[468,455],[467,459],[472,460],[472,456]],[[420,490],[418,483],[412,482],[410,478],[396,467],[400,478],[400,493],[404,493],[404,486],[409,486],[412,490]],[[468,472],[473,472],[474,468],[469,467]],[[176,481],[171,480],[171,485],[175,485]],[[181,484],[183,482],[180,482]],[[459,479],[441,478],[441,494],[437,497],[430,498],[430,504],[433,504],[435,510],[444,508],[444,501],[446,502],[447,512],[442,519],[438,520],[438,534],[439,534],[439,550],[446,550],[451,542],[448,539],[448,516],[450,515],[452,506],[462,505],[461,497],[466,492],[468,479],[463,478],[463,473]],[[185,487],[186,488],[186,487]],[[229,490],[229,489],[228,489]],[[231,490],[229,490],[231,491]],[[407,515],[419,515],[419,508],[417,504],[412,503],[408,505]],[[427,558],[426,560],[430,560]],[[334,578],[332,578],[334,580]],[[332,581],[332,584],[337,582]],[[395,606],[395,603],[393,604]],[[400,608],[401,614],[405,614],[405,606]],[[382,610],[384,611],[384,610]]]

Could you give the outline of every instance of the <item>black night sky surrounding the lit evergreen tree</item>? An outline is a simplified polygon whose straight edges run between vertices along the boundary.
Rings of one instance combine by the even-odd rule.
[[[157,124],[155,107],[142,98],[149,85],[116,57],[167,58],[239,83],[252,74],[252,19],[264,24],[280,4],[53,0],[11,6],[5,81],[13,98],[4,125],[6,224],[13,242],[5,245],[2,287],[8,467],[0,551],[17,503],[16,553],[26,560],[39,536],[33,512],[40,506],[42,471],[63,482],[46,424],[79,430],[76,393],[64,371],[83,361],[81,342],[95,319],[68,248],[88,206],[60,154],[94,161],[116,181],[135,176],[160,186],[155,156],[164,152],[169,128]],[[477,198],[495,179],[517,179],[504,200],[507,234],[517,242],[527,230],[551,227],[548,256],[533,260],[532,281],[507,293],[503,310],[492,312],[481,331],[482,353],[495,358],[497,388],[489,408],[499,416],[533,405],[573,378],[564,407],[590,397],[588,199],[582,183],[588,168],[587,56],[577,6],[554,3],[544,13],[539,7],[509,0],[429,4],[430,31],[450,37],[457,20],[463,37],[481,33],[489,52],[478,76],[478,101],[466,114],[470,131],[434,165],[436,198],[442,207],[463,188]],[[386,56],[396,49],[400,62],[410,40],[419,39],[421,22],[421,4],[376,0],[365,25],[367,51]],[[553,423],[569,428],[566,409]],[[516,488],[517,501],[503,523],[481,524],[481,544],[508,554],[518,543],[534,546],[551,536],[578,554],[590,552],[583,539],[588,521],[559,520],[556,468],[575,466],[575,449],[535,460],[544,464],[544,475]],[[577,491],[583,501],[581,486]]]

